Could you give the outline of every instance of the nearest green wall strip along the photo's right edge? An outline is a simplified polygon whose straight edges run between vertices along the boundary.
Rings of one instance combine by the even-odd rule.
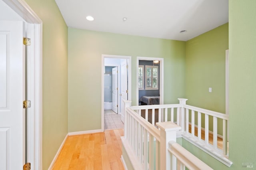
[[[255,0],[229,0],[229,147],[234,169],[246,162],[256,169],[255,8]]]

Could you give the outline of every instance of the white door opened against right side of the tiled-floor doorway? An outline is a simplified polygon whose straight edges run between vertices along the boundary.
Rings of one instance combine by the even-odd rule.
[[[127,69],[127,61],[123,61],[121,63],[121,120],[124,122],[124,103],[123,101],[128,100],[128,69]]]

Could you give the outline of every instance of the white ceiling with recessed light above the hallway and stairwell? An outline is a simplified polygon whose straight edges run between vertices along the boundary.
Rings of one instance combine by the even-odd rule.
[[[186,41],[228,22],[228,0],[55,1],[68,27],[101,32]]]

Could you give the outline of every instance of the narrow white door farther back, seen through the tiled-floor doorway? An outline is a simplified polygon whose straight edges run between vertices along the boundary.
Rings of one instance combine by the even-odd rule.
[[[112,68],[112,111],[118,113],[118,68]]]

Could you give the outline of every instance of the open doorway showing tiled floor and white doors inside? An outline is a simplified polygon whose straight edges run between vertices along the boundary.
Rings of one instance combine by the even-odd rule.
[[[102,55],[102,130],[124,127],[123,101],[131,100],[131,56]]]

